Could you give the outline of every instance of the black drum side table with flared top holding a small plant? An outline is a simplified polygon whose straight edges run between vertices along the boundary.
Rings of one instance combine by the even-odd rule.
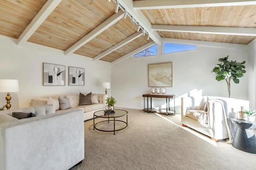
[[[256,138],[253,129],[256,122],[248,122],[236,118],[230,118],[236,124],[236,134],[232,146],[244,152],[256,153]]]

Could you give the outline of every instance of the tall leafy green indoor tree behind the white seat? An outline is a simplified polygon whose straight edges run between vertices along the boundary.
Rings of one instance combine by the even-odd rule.
[[[234,83],[238,84],[239,79],[244,76],[246,70],[244,70],[245,61],[238,63],[236,61],[228,61],[228,57],[218,59],[220,64],[217,64],[212,72],[215,72],[217,81],[226,80],[228,85],[228,97],[230,98],[230,80],[233,80]]]

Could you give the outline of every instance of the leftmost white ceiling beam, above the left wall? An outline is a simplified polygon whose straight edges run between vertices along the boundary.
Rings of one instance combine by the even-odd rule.
[[[48,0],[42,9],[36,14],[33,20],[28,24],[26,29],[22,32],[17,40],[17,44],[26,42],[31,35],[40,27],[40,25],[46,20],[46,18],[52,13],[52,11],[60,4],[62,0]]]

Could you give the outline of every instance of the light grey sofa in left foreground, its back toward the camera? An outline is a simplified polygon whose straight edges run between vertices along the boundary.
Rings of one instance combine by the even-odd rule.
[[[16,119],[12,112],[34,113]],[[0,170],[68,170],[84,159],[81,109],[53,105],[0,111]]]

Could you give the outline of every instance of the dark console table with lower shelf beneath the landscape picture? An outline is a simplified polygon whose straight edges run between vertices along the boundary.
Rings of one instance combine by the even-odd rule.
[[[143,111],[153,113],[166,113],[166,115],[175,115],[175,95],[174,94],[143,94],[144,97],[144,109]],[[147,108],[145,108],[145,98],[147,98]],[[150,108],[148,107],[148,98],[150,98]],[[152,98],[165,98],[166,99],[166,110],[165,109],[152,109]],[[167,100],[168,99],[168,100]],[[174,111],[170,110],[170,99],[174,100]]]

